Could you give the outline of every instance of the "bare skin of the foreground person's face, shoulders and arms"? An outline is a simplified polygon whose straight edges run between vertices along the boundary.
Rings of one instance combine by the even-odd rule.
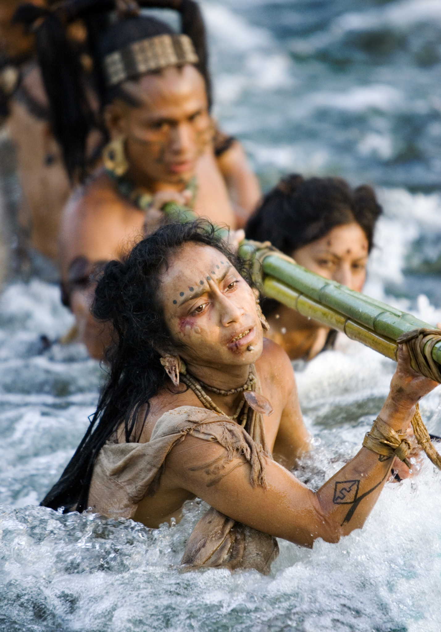
[[[188,244],[169,260],[161,275],[160,296],[176,351],[196,377],[212,386],[232,389],[245,382],[250,363],[255,363],[262,393],[274,406],[274,413],[265,416],[264,422],[276,460],[267,461],[266,490],[251,487],[250,465],[243,457],[233,459],[232,465],[237,461],[240,467],[208,486],[210,473],[205,466],[226,456],[226,451],[215,442],[187,435],[169,453],[157,493],[134,507],[135,520],[159,526],[172,516],[179,518],[183,502],[197,496],[234,520],[306,546],[317,537],[336,542],[341,535],[363,526],[393,459],[379,459],[378,454],[362,448],[317,493],[291,475],[288,469],[308,449],[293,369],[277,344],[262,339],[253,292],[238,272],[215,249]],[[246,336],[238,339],[243,333]],[[253,351],[247,351],[249,344]],[[397,432],[406,429],[416,401],[435,386],[411,370],[407,348],[400,348],[397,371],[380,412],[382,419]],[[229,415],[239,401],[238,395],[210,396]],[[140,442],[149,441],[155,423],[167,410],[184,405],[202,407],[192,391],[180,386],[174,392],[160,391],[151,404]],[[123,428],[118,437],[124,441]]]

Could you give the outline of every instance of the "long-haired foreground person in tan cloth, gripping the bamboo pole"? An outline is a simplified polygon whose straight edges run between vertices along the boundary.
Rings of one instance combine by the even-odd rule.
[[[363,526],[394,462],[362,447],[317,492],[291,473],[309,447],[293,368],[241,262],[210,224],[169,224],[106,265],[94,314],[118,334],[94,420],[42,505],[90,509],[150,528],[208,502],[190,567],[269,572],[275,537],[311,547]],[[380,412],[404,436],[436,382],[400,349]],[[377,422],[375,422],[377,423]]]

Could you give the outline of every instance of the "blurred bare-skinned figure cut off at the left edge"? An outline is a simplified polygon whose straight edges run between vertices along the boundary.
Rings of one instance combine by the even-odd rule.
[[[16,162],[21,196],[9,208],[8,232],[15,245],[17,272],[57,281],[61,210],[71,186],[59,143],[52,130],[51,109],[35,53],[35,34],[13,18],[23,4],[0,4],[0,88],[4,128],[1,168]],[[30,3],[35,10],[44,0]],[[9,164],[8,164],[9,163]]]

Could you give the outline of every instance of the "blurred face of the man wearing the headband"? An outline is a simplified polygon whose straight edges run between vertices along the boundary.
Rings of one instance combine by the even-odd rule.
[[[147,183],[187,183],[212,138],[202,75],[191,64],[171,66],[123,87],[140,106],[121,106],[119,118],[107,123],[112,137],[126,137],[132,175]]]

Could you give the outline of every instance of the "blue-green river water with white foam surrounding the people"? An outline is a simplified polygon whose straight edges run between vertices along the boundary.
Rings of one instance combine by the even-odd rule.
[[[240,4],[240,8],[238,8]],[[366,292],[441,320],[439,0],[205,2],[216,113],[264,186],[279,174],[340,174],[377,185]],[[0,297],[0,628],[81,632],[438,632],[441,477],[424,461],[388,483],[363,530],[312,550],[280,542],[272,574],[179,573],[204,507],[148,530],[38,507],[80,441],[104,375],[80,345],[56,286]],[[42,337],[45,336],[45,337]],[[314,450],[313,489],[358,450],[394,363],[356,343],[296,365]],[[441,434],[440,389],[421,404]]]

